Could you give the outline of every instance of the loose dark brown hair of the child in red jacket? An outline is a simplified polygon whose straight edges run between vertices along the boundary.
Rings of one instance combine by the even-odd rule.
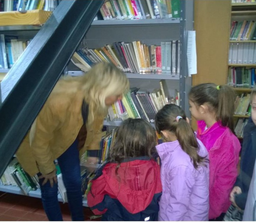
[[[121,163],[126,157],[149,156],[156,150],[157,135],[153,127],[143,119],[126,119],[116,131],[110,150],[110,161]]]

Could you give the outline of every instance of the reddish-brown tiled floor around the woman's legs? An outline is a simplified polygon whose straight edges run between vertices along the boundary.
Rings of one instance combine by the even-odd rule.
[[[68,204],[60,202],[63,220],[70,221]],[[85,220],[91,220],[92,211],[84,207]],[[96,219],[100,220],[100,218]],[[0,192],[0,221],[48,221],[41,199]]]

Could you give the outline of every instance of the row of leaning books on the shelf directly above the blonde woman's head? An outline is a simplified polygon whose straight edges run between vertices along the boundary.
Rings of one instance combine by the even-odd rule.
[[[180,72],[180,41],[147,45],[140,41],[114,42],[98,49],[83,48],[74,52],[71,61],[87,72],[94,63],[112,62],[123,72]]]

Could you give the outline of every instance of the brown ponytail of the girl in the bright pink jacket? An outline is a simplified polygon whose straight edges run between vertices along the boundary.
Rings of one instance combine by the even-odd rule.
[[[228,126],[232,133],[235,134],[233,119],[235,101],[234,90],[230,86],[220,86],[218,99],[217,119],[221,122],[222,126]]]

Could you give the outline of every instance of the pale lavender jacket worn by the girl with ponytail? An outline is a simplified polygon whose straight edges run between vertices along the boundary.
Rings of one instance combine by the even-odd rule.
[[[200,156],[208,153],[197,140]],[[209,168],[200,166],[196,170],[190,157],[179,142],[167,142],[157,146],[161,158],[161,181],[163,194],[160,199],[159,220],[208,220],[209,212]]]

